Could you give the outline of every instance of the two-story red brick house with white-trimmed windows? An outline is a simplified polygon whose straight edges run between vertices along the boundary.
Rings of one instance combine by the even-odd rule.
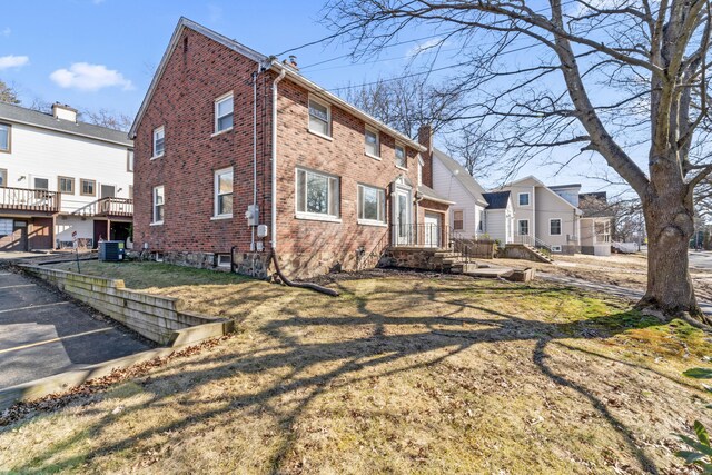
[[[135,248],[199,267],[308,277],[441,246],[449,201],[419,142],[301,76],[181,18],[135,139]],[[422,142],[422,144],[421,144]]]

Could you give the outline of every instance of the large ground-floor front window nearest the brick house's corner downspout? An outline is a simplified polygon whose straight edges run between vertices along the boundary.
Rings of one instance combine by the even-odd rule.
[[[339,217],[339,178],[297,168],[297,216]]]

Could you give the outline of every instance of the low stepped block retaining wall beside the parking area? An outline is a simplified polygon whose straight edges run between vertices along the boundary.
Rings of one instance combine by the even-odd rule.
[[[189,345],[233,330],[233,320],[185,311],[179,299],[127,289],[123,280],[21,267],[160,345]]]

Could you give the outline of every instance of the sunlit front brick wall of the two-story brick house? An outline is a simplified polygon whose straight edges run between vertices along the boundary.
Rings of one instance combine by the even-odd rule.
[[[293,275],[319,274],[340,264],[353,269],[356,251],[366,253],[388,239],[387,227],[359,225],[358,184],[386,189],[405,175],[417,182],[417,151],[407,150],[407,170],[395,166],[395,139],[380,137],[380,160],[365,155],[365,122],[332,106],[333,140],[308,132],[308,91],[285,80],[279,83],[278,117],[278,255],[280,265]],[[295,168],[305,167],[340,178],[342,222],[297,219],[295,217]],[[390,221],[390,199],[386,195],[386,216]]]

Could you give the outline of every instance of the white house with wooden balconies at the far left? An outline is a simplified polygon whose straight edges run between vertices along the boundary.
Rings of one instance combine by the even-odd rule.
[[[129,237],[132,147],[68,106],[43,113],[0,102],[0,250]]]

